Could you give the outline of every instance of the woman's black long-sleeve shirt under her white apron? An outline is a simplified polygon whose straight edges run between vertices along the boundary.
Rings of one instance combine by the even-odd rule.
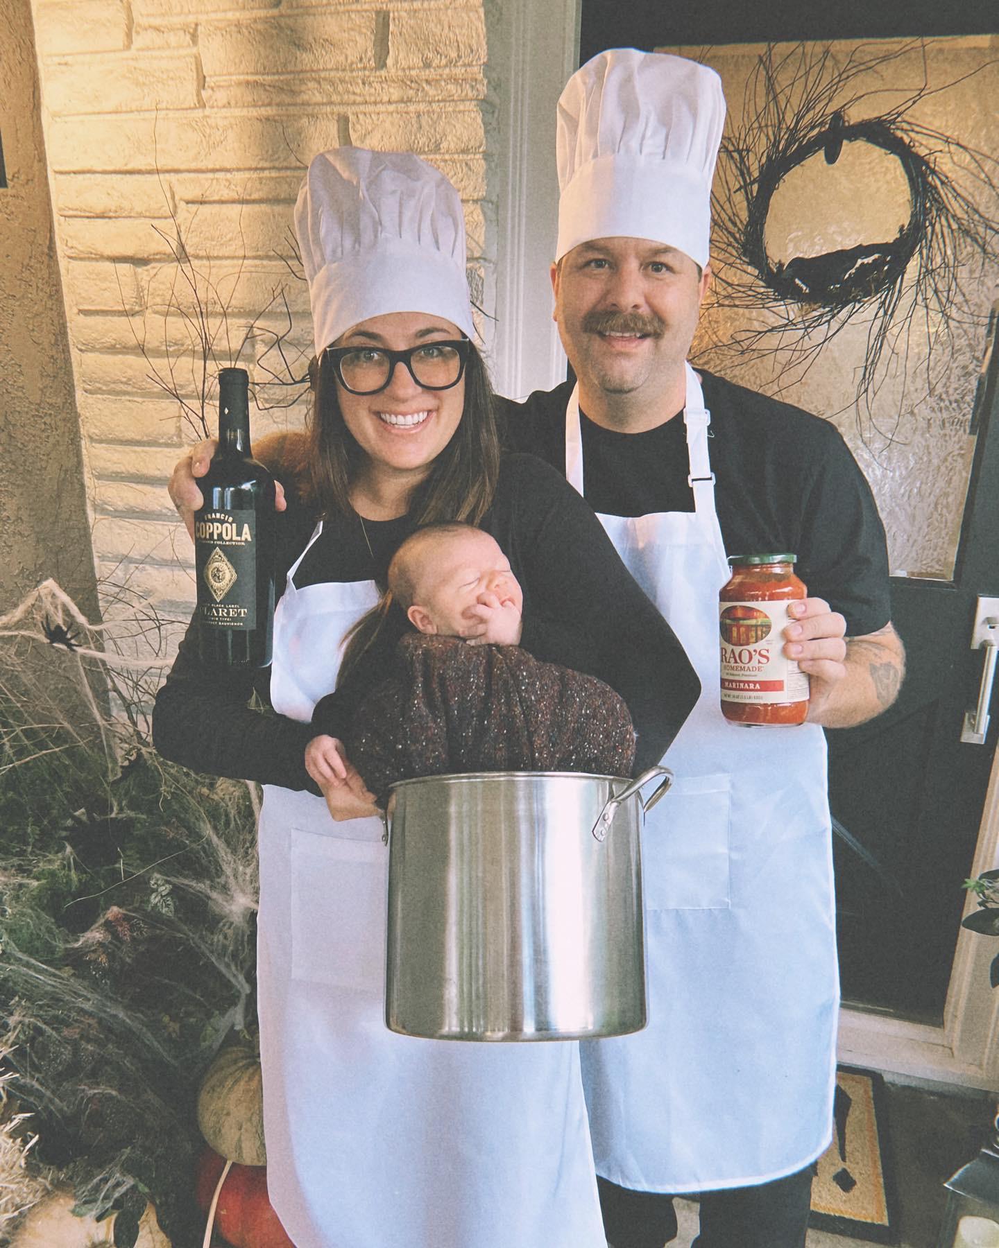
[[[292,499],[277,520],[280,592],[315,515]],[[693,708],[699,681],[591,508],[547,464],[509,454],[481,528],[496,538],[521,583],[521,645],[542,661],[587,671],[617,690],[638,738],[636,768],[657,763]],[[408,517],[362,525],[356,515],[331,515],[296,570],[295,584],[383,584],[388,560],[412,529]],[[343,731],[353,706],[388,670],[405,626],[401,613],[390,618],[341,686]],[[340,640],[330,638],[330,645]],[[230,671],[201,663],[192,624],[156,695],[156,749],[197,771],[317,791],[305,770],[305,746],[315,729],[270,710],[268,685],[267,671]],[[263,713],[249,705],[253,693]]]

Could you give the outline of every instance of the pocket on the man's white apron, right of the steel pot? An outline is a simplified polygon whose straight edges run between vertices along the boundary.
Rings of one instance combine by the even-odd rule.
[[[646,817],[642,885],[647,910],[729,910],[732,778],[677,778]]]

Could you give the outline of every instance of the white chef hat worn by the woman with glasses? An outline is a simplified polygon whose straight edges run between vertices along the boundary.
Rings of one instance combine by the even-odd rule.
[[[317,354],[386,312],[427,312],[473,336],[461,200],[418,156],[321,152],[298,191],[295,232]]]

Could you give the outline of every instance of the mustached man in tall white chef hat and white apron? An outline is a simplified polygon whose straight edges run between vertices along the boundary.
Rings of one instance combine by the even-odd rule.
[[[838,1011],[822,726],[879,714],[903,666],[837,429],[687,363],[723,120],[718,75],[678,56],[606,51],[569,79],[552,286],[577,382],[509,422],[591,502],[703,686],[643,835],[649,1023],[583,1046],[614,1248],[672,1238],[676,1193],[702,1193],[699,1248],[804,1244]],[[719,709],[718,590],[728,554],[763,552],[798,555],[785,653],[812,698],[807,724],[747,731]]]

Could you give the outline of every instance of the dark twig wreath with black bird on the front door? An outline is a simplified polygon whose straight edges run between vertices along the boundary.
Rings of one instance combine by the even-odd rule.
[[[932,87],[928,50],[922,41],[890,49],[858,45],[839,55],[825,45],[780,51],[768,46],[747,82],[743,120],[726,136],[719,155],[712,240],[716,305],[749,316],[727,341],[712,343],[712,352],[733,353],[742,362],[777,354],[784,379],[788,369],[798,379],[835,334],[860,322],[867,344],[855,393],[858,421],[864,411],[870,416],[885,349],[902,353],[908,363],[918,318],[927,326],[928,348],[919,364],[928,393],[942,372],[938,362],[949,363],[958,339],[980,349],[984,310],[972,306],[968,283],[959,278],[968,265],[984,271],[994,255],[999,162],[920,124],[912,112],[988,65]],[[922,84],[888,111],[865,116],[872,97],[883,97],[887,89],[860,90],[857,80],[913,52],[922,57]],[[850,144],[867,144],[898,162],[908,186],[908,221],[895,237],[774,260],[767,222],[778,188],[819,154],[834,165]]]

